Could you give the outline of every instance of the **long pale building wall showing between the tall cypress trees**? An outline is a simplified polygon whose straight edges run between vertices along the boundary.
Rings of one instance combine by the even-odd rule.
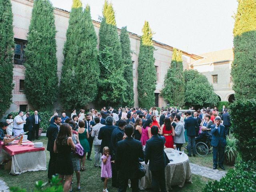
[[[29,101],[26,99],[26,95],[23,93],[24,90],[24,73],[25,67],[24,62],[26,60],[26,55],[24,54],[24,48],[26,47],[26,40],[28,34],[28,28],[30,25],[30,19],[32,15],[33,0],[11,0],[12,2],[12,12],[13,12],[13,30],[14,30],[14,40],[15,40],[15,53],[14,53],[14,76],[13,82],[15,84],[13,90],[12,104],[10,106],[10,111],[18,110],[28,110],[32,109]],[[60,79],[62,61],[64,59],[62,50],[64,47],[64,42],[66,40],[66,30],[68,28],[69,12],[55,8],[55,25],[56,25],[56,44],[57,44],[57,60],[58,60],[58,78]],[[95,32],[98,36],[100,22],[93,21]],[[118,29],[120,33],[120,29]],[[133,61],[133,80],[134,80],[134,106],[138,106],[138,91],[137,91],[137,79],[138,79],[138,54],[140,49],[140,36],[132,32],[129,33],[132,61]],[[157,73],[157,84],[156,84],[156,106],[166,106],[166,101],[159,95],[164,86],[164,76],[170,67],[170,62],[172,59],[172,46],[154,41],[154,58],[155,67]],[[196,67],[197,62],[204,59],[203,56],[198,56],[195,54],[190,54],[188,52],[182,51],[183,68],[189,69],[194,66]],[[193,65],[192,65],[193,64]],[[219,65],[219,64],[218,64]],[[215,65],[216,66],[216,65]],[[198,65],[198,68],[199,65]],[[229,74],[228,74],[229,75]],[[209,76],[209,75],[208,75]],[[218,87],[216,88],[218,89]],[[218,91],[218,90],[216,90]],[[222,100],[225,100],[225,96],[219,94]],[[90,106],[92,106],[91,104]],[[56,109],[60,110],[60,106],[54,106]],[[86,108],[86,106],[85,106]]]

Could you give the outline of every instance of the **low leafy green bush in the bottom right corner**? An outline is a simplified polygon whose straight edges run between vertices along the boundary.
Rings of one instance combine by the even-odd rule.
[[[203,192],[255,192],[256,191],[256,163],[241,162],[234,169],[228,170],[220,181],[209,181]]]

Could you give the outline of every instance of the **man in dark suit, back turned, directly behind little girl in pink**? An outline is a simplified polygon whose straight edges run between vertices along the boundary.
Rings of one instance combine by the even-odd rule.
[[[98,139],[102,140],[100,145],[100,152],[102,152],[103,148],[106,146],[110,148],[112,131],[115,128],[118,128],[117,126],[113,125],[113,122],[114,122],[114,118],[112,116],[107,116],[106,126],[100,128],[99,135],[98,135]],[[111,151],[111,148],[110,148],[110,151]]]

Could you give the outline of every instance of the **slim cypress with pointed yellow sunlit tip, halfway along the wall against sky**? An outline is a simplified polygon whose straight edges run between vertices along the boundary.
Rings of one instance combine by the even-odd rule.
[[[147,21],[144,23],[142,33],[138,57],[138,102],[140,107],[149,109],[155,105],[156,68],[153,33]]]

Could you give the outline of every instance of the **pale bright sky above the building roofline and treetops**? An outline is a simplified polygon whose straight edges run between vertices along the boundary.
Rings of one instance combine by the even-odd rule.
[[[54,7],[70,11],[72,0],[50,0]],[[99,21],[104,0],[81,0],[90,5],[92,19]],[[153,40],[192,54],[233,46],[232,30],[236,0],[109,0],[118,28],[142,35],[147,20]]]

